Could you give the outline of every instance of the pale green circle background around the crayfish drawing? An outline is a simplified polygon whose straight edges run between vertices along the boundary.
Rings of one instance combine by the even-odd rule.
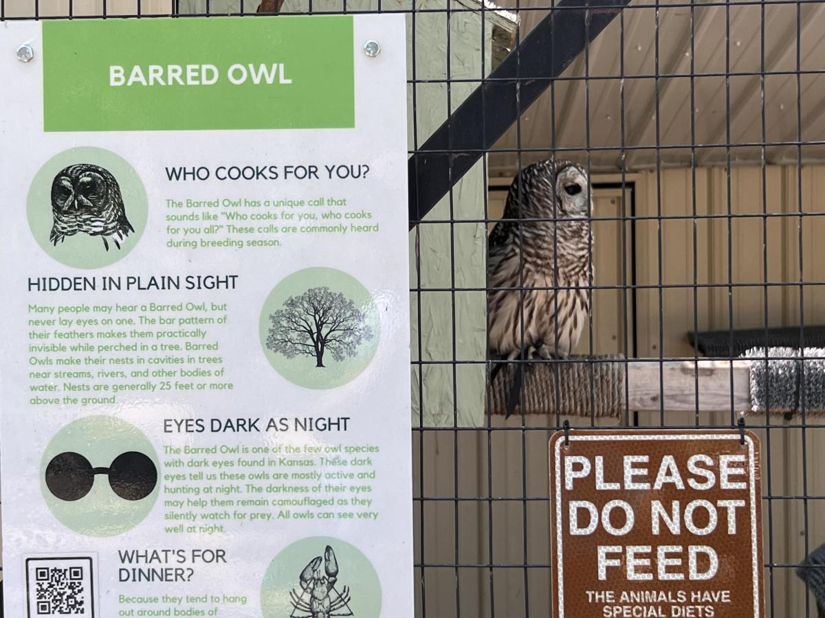
[[[295,611],[290,591],[307,599],[309,593],[300,585],[300,574],[315,557],[321,558],[320,571],[325,573],[324,555],[332,547],[338,563],[335,588],[329,591],[330,601],[349,589],[350,601],[332,614],[353,618],[379,618],[381,614],[381,583],[370,560],[355,545],[331,536],[312,536],[295,541],[272,560],[261,586],[261,610],[264,618],[309,618],[306,611]],[[295,614],[293,615],[293,612]]]

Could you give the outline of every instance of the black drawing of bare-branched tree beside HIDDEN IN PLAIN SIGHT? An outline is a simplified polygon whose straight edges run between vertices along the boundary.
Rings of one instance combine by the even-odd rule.
[[[337,361],[355,356],[362,341],[372,339],[364,311],[342,293],[329,288],[309,288],[286,299],[271,313],[266,347],[286,358],[311,356],[315,367],[325,367],[324,354]]]

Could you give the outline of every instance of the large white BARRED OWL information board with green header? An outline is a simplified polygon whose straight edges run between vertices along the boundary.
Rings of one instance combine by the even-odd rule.
[[[405,41],[4,24],[6,616],[413,616]]]

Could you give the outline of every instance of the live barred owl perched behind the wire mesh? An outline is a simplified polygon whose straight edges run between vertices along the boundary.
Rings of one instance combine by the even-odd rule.
[[[589,311],[591,209],[587,172],[573,162],[537,162],[513,180],[503,220],[488,238],[490,358],[572,352]],[[491,382],[503,365],[496,363]],[[519,390],[521,365],[507,415]]]

